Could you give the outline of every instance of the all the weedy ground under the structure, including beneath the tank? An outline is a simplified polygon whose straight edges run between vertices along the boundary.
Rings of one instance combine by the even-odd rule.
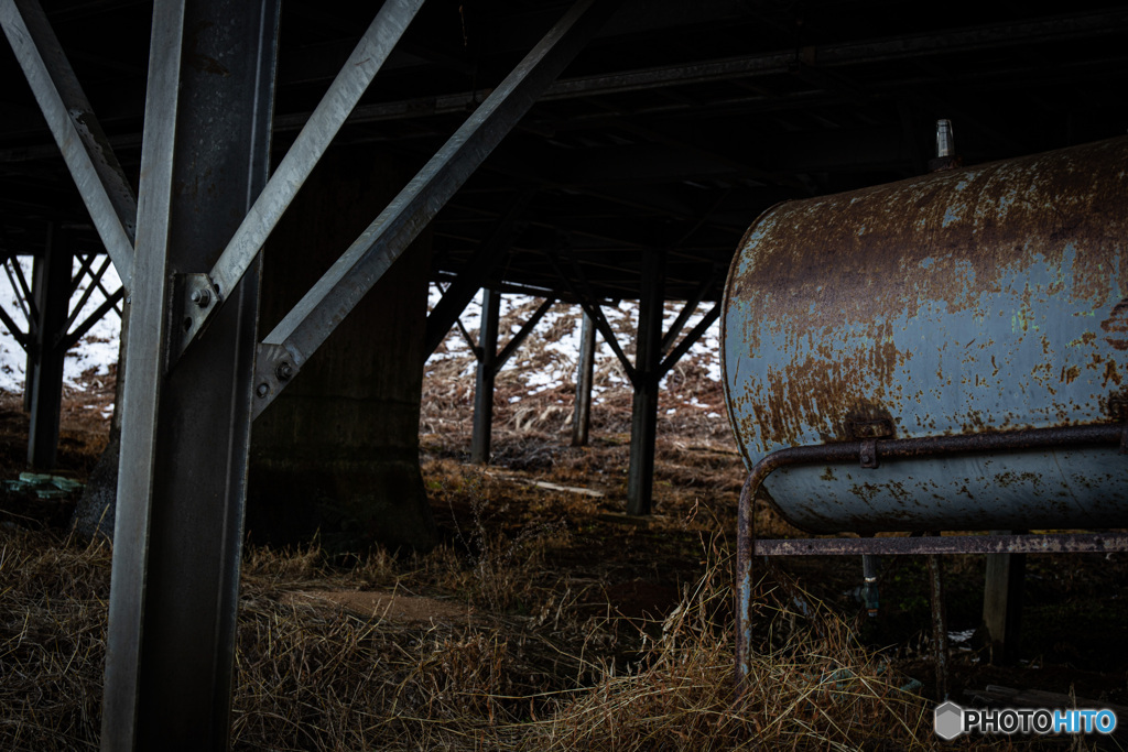
[[[547,342],[518,368],[550,365]],[[722,399],[707,364],[684,362],[663,390],[646,519],[623,514],[631,396],[614,366],[597,370],[587,448],[569,442],[570,383],[530,396],[503,371],[482,468],[465,465],[468,365],[449,359],[424,382],[438,548],[247,549],[235,749],[1121,749],[941,744],[926,569],[911,558],[883,563],[876,619],[851,594],[857,561],[759,565],[751,679],[738,696],[731,573],[743,468],[714,415]],[[68,395],[60,474],[92,467],[106,425],[85,405],[104,407],[112,387]],[[25,446],[19,398],[0,396],[5,479],[23,469]],[[68,532],[69,505],[15,492],[0,502],[0,749],[98,746],[112,551]],[[767,507],[757,529],[797,534]],[[958,649],[955,699],[1004,684],[1128,705],[1125,559],[1029,557],[1024,663],[992,667],[984,649]],[[950,628],[973,629],[982,560],[945,566]]]

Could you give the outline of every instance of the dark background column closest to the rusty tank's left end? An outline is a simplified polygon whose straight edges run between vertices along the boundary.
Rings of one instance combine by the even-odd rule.
[[[634,404],[627,514],[650,514],[654,493],[654,441],[658,437],[658,382],[662,360],[666,250],[650,251],[642,267],[638,337],[635,343]]]

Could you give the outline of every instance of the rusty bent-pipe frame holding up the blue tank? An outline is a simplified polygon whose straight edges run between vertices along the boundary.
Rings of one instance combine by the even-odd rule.
[[[977,452],[1061,449],[1117,444],[1121,452],[1128,424],[1025,428],[998,433],[918,439],[866,439],[835,444],[791,446],[761,459],[740,490],[737,517],[737,683],[742,688],[751,655],[752,556],[837,554],[1001,554],[1090,552],[1128,550],[1128,534],[1084,533],[1049,536],[958,536],[935,538],[827,538],[756,541],[752,499],[772,472],[783,467],[823,462],[857,462],[876,467],[890,460],[948,457]]]

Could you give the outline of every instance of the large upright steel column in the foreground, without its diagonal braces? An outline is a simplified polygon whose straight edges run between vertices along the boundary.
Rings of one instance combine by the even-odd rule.
[[[169,280],[210,268],[265,185],[276,38],[277,0],[153,9],[104,750],[228,745],[258,264],[171,369]]]

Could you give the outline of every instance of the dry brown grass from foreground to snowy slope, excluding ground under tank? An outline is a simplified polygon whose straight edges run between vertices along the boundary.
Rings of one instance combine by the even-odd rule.
[[[515,368],[546,366],[548,340],[530,338]],[[936,746],[931,704],[901,691],[906,680],[829,610],[791,611],[797,590],[782,575],[757,601],[763,639],[737,698],[731,559],[717,531],[733,529],[743,470],[724,418],[708,417],[723,412],[720,387],[699,363],[679,364],[663,393],[677,412],[663,401],[658,514],[629,524],[605,521],[622,517],[629,440],[629,391],[610,388],[617,366],[597,371],[609,389],[585,449],[566,446],[571,383],[511,402],[518,380],[503,371],[494,446],[505,467],[483,470],[450,459],[469,444],[467,365],[439,363],[424,384],[424,477],[446,545],[399,558],[378,549],[331,560],[316,541],[246,551],[235,749]],[[704,407],[686,409],[690,400]],[[532,472],[606,496],[517,483]],[[764,510],[757,529],[787,532]],[[609,593],[655,584],[652,567],[662,567],[654,581],[680,583],[680,602],[623,616]],[[0,528],[0,749],[97,747],[108,584],[106,547]],[[309,591],[458,608],[396,620],[294,596]]]

